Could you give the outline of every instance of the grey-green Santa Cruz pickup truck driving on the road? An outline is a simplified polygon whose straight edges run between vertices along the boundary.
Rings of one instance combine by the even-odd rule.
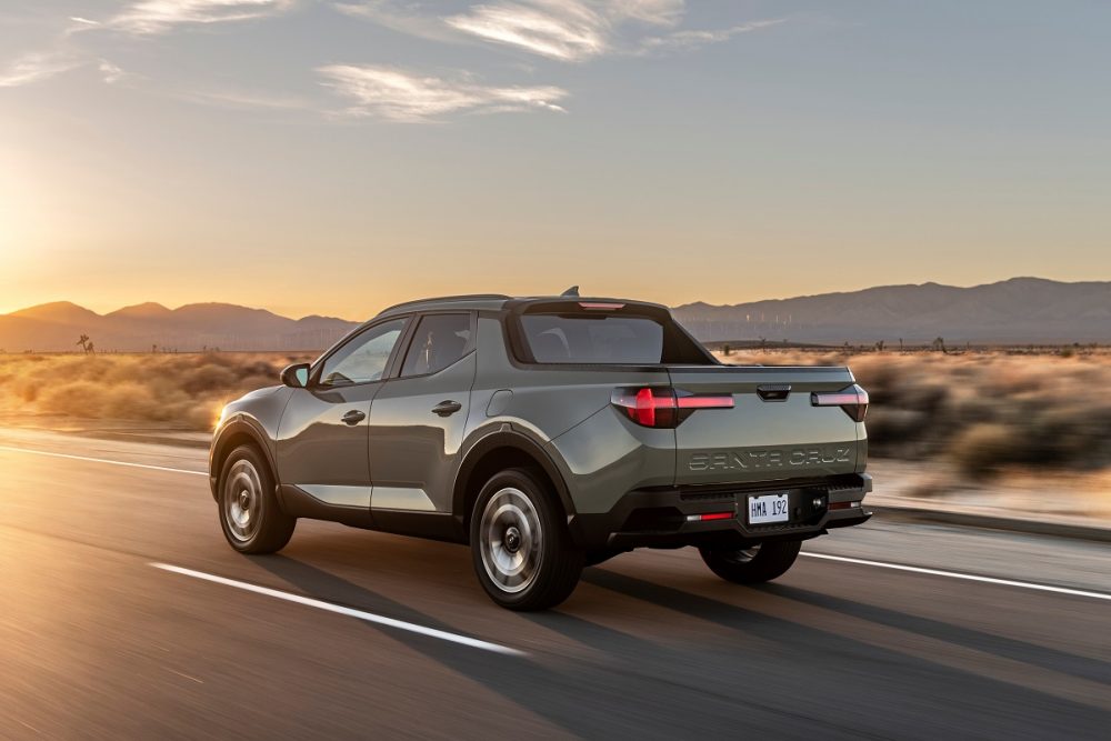
[[[469,543],[494,602],[539,610],[642,547],[767,581],[870,517],[852,373],[724,366],[658,304],[413,301],[281,380],[228,404],[212,440],[243,553],[281,549],[298,518]]]

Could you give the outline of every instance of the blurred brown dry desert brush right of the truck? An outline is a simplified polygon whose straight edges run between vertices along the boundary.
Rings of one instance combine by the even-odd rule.
[[[733,352],[727,362],[848,364],[868,389],[873,455],[1003,469],[1111,467],[1111,354]]]

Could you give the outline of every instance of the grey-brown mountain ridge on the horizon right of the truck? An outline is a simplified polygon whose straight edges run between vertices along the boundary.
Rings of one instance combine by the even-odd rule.
[[[689,303],[674,314],[702,341],[1108,342],[1111,282],[1013,278],[972,288],[884,286],[734,306]]]

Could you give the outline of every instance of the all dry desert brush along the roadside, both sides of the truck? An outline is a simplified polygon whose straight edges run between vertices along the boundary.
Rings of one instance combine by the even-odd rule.
[[[287,353],[0,356],[0,412],[208,430],[229,400],[278,382]],[[1111,354],[737,352],[732,363],[849,364],[869,390],[877,457],[988,478],[1111,467]]]

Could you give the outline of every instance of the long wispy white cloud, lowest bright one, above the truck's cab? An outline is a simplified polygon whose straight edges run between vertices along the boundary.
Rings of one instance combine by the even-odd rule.
[[[498,88],[414,74],[394,67],[330,64],[323,84],[354,101],[346,113],[399,122],[428,122],[451,113],[562,111],[567,91],[556,87]]]

